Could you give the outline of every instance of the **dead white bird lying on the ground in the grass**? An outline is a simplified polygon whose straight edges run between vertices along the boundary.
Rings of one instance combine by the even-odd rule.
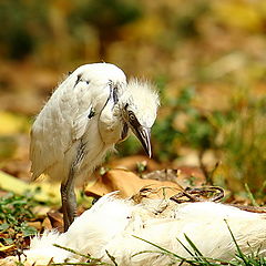
[[[111,255],[120,266],[180,265],[181,259],[155,245],[190,259],[190,252],[195,250],[187,236],[205,257],[231,260],[236,245],[228,227],[244,254],[266,255],[266,214],[214,202],[176,204],[146,198],[135,203],[111,193],[78,217],[66,233],[34,237],[24,255],[30,265],[47,265],[51,258],[54,263],[86,260],[53,245],[58,244],[104,263],[112,264]]]

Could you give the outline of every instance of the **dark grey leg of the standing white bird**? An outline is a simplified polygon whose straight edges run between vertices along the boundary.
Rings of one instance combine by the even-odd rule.
[[[76,216],[76,198],[74,193],[74,170],[71,167],[66,183],[61,184],[61,200],[63,211],[64,232],[73,223]]]

